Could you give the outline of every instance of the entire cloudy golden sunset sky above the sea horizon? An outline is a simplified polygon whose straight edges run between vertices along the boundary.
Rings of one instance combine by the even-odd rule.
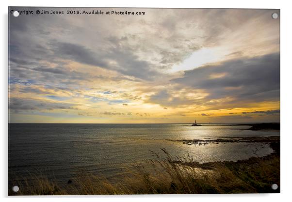
[[[67,8],[11,8],[54,10]],[[279,122],[279,10],[9,16],[9,122]]]

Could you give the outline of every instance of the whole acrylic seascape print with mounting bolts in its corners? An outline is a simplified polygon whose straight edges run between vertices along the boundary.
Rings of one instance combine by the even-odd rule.
[[[280,10],[8,7],[8,195],[280,192]]]

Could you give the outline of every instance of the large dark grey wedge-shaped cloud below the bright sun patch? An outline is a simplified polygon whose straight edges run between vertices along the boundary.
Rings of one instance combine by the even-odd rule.
[[[208,100],[230,97],[230,103],[279,101],[279,62],[279,53],[230,60],[185,71],[184,77],[172,81],[204,89],[209,93]]]

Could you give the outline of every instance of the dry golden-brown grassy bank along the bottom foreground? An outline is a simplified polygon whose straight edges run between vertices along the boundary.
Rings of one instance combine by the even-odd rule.
[[[251,157],[237,162],[199,164],[192,157],[174,160],[164,149],[166,158],[157,155],[154,168],[162,170],[159,177],[137,167],[131,177],[111,183],[93,174],[80,174],[65,185],[43,176],[28,183],[14,182],[19,191],[9,186],[8,195],[88,195],[88,194],[211,194],[211,193],[280,193],[280,147],[271,142],[274,152],[265,157]],[[277,184],[277,190],[271,188]]]

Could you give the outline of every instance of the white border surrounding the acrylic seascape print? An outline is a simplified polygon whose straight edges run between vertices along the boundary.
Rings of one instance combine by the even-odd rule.
[[[264,200],[265,202],[288,201],[291,192],[291,157],[290,148],[292,143],[292,133],[289,128],[292,112],[291,99],[291,36],[292,36],[292,7],[288,0],[9,0],[1,3],[1,165],[0,165],[0,196],[3,201],[25,202],[31,201],[49,201],[53,198],[56,202],[64,200],[70,202],[79,202],[81,198],[88,201],[161,201],[177,202],[178,200],[202,200],[228,202],[235,200],[237,202],[246,202],[247,200]],[[276,8],[281,9],[281,194],[241,194],[241,195],[134,195],[134,196],[64,196],[64,197],[7,197],[7,6],[62,6],[62,7],[168,7],[168,8]],[[83,199],[82,199],[83,200]]]

